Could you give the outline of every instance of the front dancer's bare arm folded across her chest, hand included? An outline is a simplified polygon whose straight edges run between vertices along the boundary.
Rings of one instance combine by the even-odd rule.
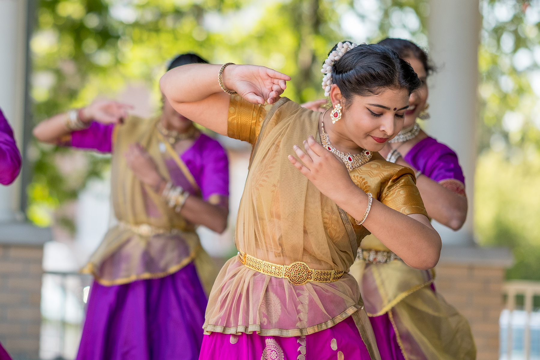
[[[292,164],[321,193],[335,201],[353,218],[362,219],[368,205],[368,196],[350,179],[345,165],[312,136],[304,141],[303,145],[307,154],[298,146],[294,151],[305,165],[289,155]],[[431,269],[438,262],[441,237],[424,215],[404,215],[373,199],[369,216],[363,226],[410,267]]]

